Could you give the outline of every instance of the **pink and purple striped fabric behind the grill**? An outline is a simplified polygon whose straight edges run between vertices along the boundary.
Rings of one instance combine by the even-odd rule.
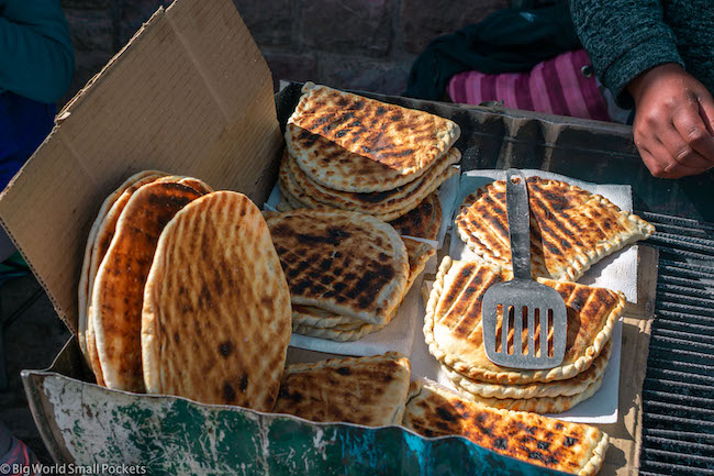
[[[595,76],[585,77],[583,66],[591,66],[590,58],[584,49],[577,49],[527,73],[460,73],[449,80],[448,93],[451,101],[465,104],[503,101],[506,108],[610,121]]]

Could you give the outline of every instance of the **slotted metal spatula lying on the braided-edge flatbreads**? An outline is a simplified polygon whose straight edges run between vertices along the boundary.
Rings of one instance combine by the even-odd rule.
[[[558,291],[531,277],[531,222],[525,177],[520,170],[510,168],[505,184],[513,279],[491,286],[483,295],[481,325],[486,355],[504,367],[556,367],[566,353],[566,305]]]

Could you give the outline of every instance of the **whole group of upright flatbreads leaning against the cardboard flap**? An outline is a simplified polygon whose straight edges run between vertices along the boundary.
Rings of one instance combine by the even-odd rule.
[[[241,193],[154,171],[126,180],[91,228],[79,316],[99,385],[272,409],[290,295]]]

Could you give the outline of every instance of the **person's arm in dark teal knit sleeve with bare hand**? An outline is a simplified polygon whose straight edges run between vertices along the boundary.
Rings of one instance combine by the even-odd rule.
[[[714,102],[684,71],[659,0],[570,0],[576,31],[602,82],[624,107],[635,103],[635,144],[656,177],[714,166]]]

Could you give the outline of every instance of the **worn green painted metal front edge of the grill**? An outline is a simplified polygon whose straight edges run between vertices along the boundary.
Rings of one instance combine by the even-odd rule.
[[[57,463],[138,465],[150,475],[561,475],[458,438],[109,390],[82,376],[70,341],[23,380]]]

